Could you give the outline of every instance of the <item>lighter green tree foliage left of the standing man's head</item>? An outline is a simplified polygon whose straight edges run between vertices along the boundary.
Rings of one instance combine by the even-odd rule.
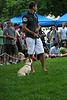
[[[28,2],[30,0],[3,0],[0,1],[0,19],[11,19],[15,16],[20,16],[22,12],[28,10]],[[5,2],[5,6],[4,6]],[[3,20],[5,21],[5,20]]]

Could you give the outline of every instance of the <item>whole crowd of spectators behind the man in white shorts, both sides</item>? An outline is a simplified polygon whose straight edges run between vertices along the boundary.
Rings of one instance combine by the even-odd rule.
[[[8,34],[9,33],[9,34]],[[56,27],[53,25],[50,28],[50,31],[47,35],[40,28],[39,37],[42,40],[44,53],[47,53],[50,58],[67,56],[67,28],[66,23],[62,24],[60,30],[56,30]],[[50,43],[50,49],[46,46],[45,38],[48,38],[47,43]],[[27,54],[28,48],[26,44],[25,32],[18,23],[14,25],[10,20],[6,21],[6,26],[0,22],[0,55],[6,52],[12,57],[17,58],[18,52],[22,52],[28,57]],[[36,53],[34,52],[34,55]],[[39,59],[39,56],[34,56],[36,59]],[[47,56],[46,56],[47,57]],[[46,58],[45,57],[45,58]],[[0,56],[0,66],[4,63],[4,56]],[[35,59],[35,60],[36,60]],[[6,64],[10,65],[11,63],[16,64],[18,61],[16,59],[10,58],[6,55]]]

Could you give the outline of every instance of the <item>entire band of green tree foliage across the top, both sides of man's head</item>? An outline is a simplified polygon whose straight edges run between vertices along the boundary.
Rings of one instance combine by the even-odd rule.
[[[0,19],[20,16],[22,12],[28,11],[28,4],[31,0],[0,0]],[[62,16],[66,13],[66,0],[36,0],[38,4],[37,13],[40,15]]]

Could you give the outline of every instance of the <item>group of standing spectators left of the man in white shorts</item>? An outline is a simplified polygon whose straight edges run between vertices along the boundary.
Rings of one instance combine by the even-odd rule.
[[[27,46],[25,43],[25,32],[22,31],[22,26],[18,23],[14,25],[8,19],[6,20],[6,26],[3,27],[3,24],[0,22],[0,55],[7,53],[6,64],[10,65],[11,63],[16,64],[18,61],[17,55],[18,52],[27,53]],[[12,57],[10,57],[12,56]],[[4,55],[0,56],[0,66],[4,63]]]

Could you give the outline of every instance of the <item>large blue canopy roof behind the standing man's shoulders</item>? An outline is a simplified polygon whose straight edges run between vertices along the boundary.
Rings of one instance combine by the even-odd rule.
[[[10,19],[11,22],[12,22],[13,24],[19,23],[20,25],[22,25],[22,17],[23,17],[23,15],[26,14],[26,13],[27,13],[27,12],[23,12],[23,13],[21,13],[21,16],[19,16],[19,17],[14,17],[14,18]],[[39,21],[39,25],[40,25],[40,26],[55,25],[55,21],[54,21],[54,20],[48,19],[48,18],[46,18],[46,17],[44,17],[44,16],[41,16],[41,15],[39,15],[39,14],[36,14],[36,15],[38,16],[38,21]]]

